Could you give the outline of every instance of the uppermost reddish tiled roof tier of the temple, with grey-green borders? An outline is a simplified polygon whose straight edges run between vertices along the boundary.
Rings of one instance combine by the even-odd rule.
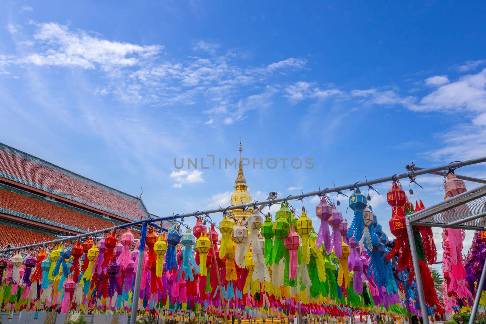
[[[3,178],[3,179],[2,179]],[[135,221],[149,217],[140,198],[0,143],[0,180]]]

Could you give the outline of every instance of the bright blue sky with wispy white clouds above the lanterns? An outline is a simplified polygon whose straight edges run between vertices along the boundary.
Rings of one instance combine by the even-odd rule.
[[[233,159],[240,137],[243,156],[280,161],[245,167],[259,200],[486,153],[484,2],[163,2],[1,1],[0,141],[143,188],[158,215],[228,205],[234,169],[174,158]],[[442,199],[440,177],[417,182]]]

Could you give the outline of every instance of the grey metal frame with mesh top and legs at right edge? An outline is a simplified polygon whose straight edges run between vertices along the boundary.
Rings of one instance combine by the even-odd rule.
[[[438,204],[427,207],[417,213],[406,216],[405,219],[410,251],[417,280],[418,298],[424,324],[429,324],[427,305],[423,292],[420,268],[418,266],[417,249],[413,235],[413,226],[429,226],[474,231],[486,230],[486,185],[458,194]],[[473,324],[479,306],[479,300],[486,280],[486,266],[483,267],[478,290],[474,298],[469,324]]]

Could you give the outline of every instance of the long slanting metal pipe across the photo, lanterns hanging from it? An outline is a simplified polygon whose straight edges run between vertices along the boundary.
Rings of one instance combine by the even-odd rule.
[[[470,160],[465,160],[465,161],[462,161],[462,162],[461,161],[455,161],[455,162],[451,162],[451,163],[448,163],[448,164],[445,164],[445,165],[441,165],[441,166],[437,166],[437,167],[433,167],[433,168],[429,168],[429,169],[422,169],[422,170],[413,171],[413,172],[414,172],[414,175],[417,176],[417,175],[428,174],[428,173],[432,173],[432,172],[436,172],[436,171],[457,169],[457,168],[460,168],[462,166],[468,166],[468,165],[482,163],[482,162],[486,162],[486,156],[478,157],[478,158],[470,159]],[[247,207],[256,207],[256,206],[260,206],[260,205],[270,205],[271,206],[271,205],[274,205],[274,204],[277,204],[277,203],[287,202],[289,200],[301,200],[301,199],[304,199],[306,197],[326,195],[330,192],[338,192],[339,193],[340,191],[343,191],[343,190],[352,190],[352,189],[360,186],[360,184],[363,184],[365,186],[369,186],[369,185],[375,185],[375,184],[389,182],[389,181],[397,181],[397,180],[403,179],[403,178],[410,178],[410,176],[411,176],[410,172],[395,173],[391,177],[387,176],[387,177],[382,177],[382,178],[378,178],[378,179],[374,179],[374,180],[367,180],[366,179],[365,181],[357,181],[357,182],[355,182],[353,184],[349,184],[349,185],[344,185],[344,186],[340,186],[340,187],[334,186],[333,188],[326,188],[324,190],[306,192],[306,193],[302,193],[300,195],[289,195],[289,196],[284,197],[284,198],[268,199],[268,200],[264,200],[264,201],[261,201],[261,202],[248,203],[248,204],[242,204],[242,205],[230,205],[230,206],[228,206],[224,209],[222,207],[220,207],[220,208],[209,209],[209,210],[198,210],[198,211],[193,212],[193,213],[175,214],[173,216],[156,217],[156,218],[147,218],[147,219],[142,219],[142,220],[139,220],[139,221],[136,221],[136,222],[121,224],[121,225],[105,228],[105,229],[94,231],[94,232],[83,233],[83,234],[72,236],[72,237],[69,237],[69,238],[54,239],[54,240],[48,241],[48,242],[41,242],[41,243],[25,245],[25,246],[20,246],[20,247],[6,248],[6,249],[3,249],[3,250],[0,250],[0,253],[6,253],[6,252],[9,252],[9,251],[17,251],[17,250],[24,250],[24,249],[31,249],[31,248],[34,248],[34,247],[60,243],[60,242],[64,242],[64,241],[67,241],[67,240],[82,239],[82,238],[85,238],[87,236],[104,234],[104,233],[110,232],[112,230],[118,230],[118,229],[121,229],[121,228],[131,227],[131,226],[139,225],[139,224],[142,224],[142,223],[148,223],[149,226],[153,226],[153,227],[156,227],[156,228],[159,228],[159,229],[161,228],[162,230],[168,231],[168,229],[157,225],[156,222],[175,221],[177,219],[183,220],[186,217],[197,217],[197,216],[202,216],[202,215],[209,215],[209,214],[214,214],[214,213],[226,212],[226,211],[235,210],[235,209],[245,210]]]

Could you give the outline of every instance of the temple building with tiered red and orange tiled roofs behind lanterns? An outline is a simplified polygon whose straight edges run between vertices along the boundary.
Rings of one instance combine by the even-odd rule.
[[[0,249],[149,217],[140,197],[0,143]]]

